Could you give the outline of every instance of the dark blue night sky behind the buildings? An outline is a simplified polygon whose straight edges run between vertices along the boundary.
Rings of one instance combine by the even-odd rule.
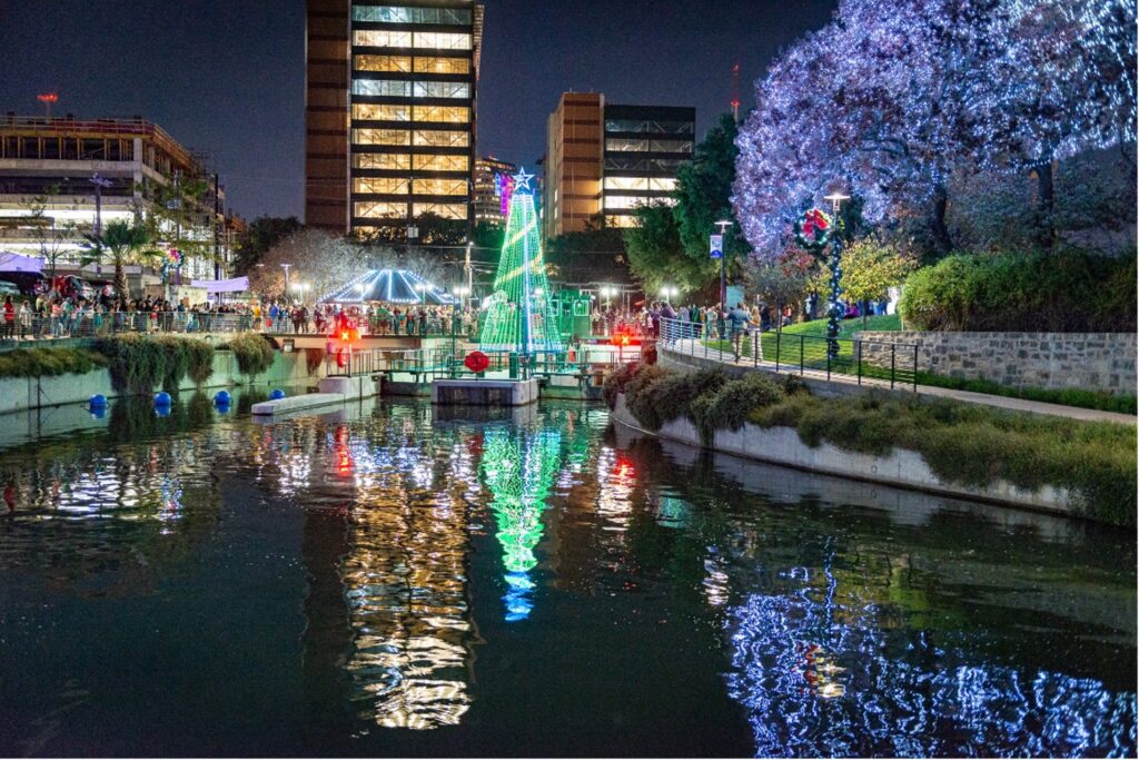
[[[478,152],[532,166],[566,90],[726,111],[837,0],[486,0]],[[210,153],[233,211],[304,206],[303,0],[0,0],[0,111],[154,121]]]

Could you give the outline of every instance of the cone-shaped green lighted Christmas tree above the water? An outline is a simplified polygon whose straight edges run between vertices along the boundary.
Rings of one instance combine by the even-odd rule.
[[[494,293],[480,336],[484,351],[534,353],[563,348],[546,279],[532,178],[525,170],[514,178]]]

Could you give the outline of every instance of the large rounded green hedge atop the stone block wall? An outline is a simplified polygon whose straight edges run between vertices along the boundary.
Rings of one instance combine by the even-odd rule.
[[[910,275],[899,311],[927,330],[1133,333],[1136,276],[1134,253],[958,254]]]

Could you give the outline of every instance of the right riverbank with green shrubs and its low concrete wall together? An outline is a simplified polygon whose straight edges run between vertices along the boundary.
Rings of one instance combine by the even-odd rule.
[[[626,369],[606,400],[623,425],[828,475],[1085,517],[1136,521],[1133,430],[878,393],[820,398],[762,375]]]

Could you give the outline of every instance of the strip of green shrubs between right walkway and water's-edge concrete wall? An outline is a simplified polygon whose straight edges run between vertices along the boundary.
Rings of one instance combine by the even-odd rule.
[[[950,400],[898,400],[876,393],[820,399],[789,383],[751,374],[743,379],[699,383],[657,367],[626,368],[623,392],[638,422],[656,430],[681,416],[693,418],[705,443],[716,430],[745,422],[794,427],[810,447],[830,443],[876,456],[894,449],[921,455],[941,480],[983,487],[998,480],[1035,490],[1072,489],[1088,516],[1121,525],[1136,523],[1136,431],[1130,425],[1085,423],[1025,415]],[[695,397],[678,389],[702,386]],[[653,400],[688,399],[667,410]],[[614,397],[615,398],[615,397]]]

